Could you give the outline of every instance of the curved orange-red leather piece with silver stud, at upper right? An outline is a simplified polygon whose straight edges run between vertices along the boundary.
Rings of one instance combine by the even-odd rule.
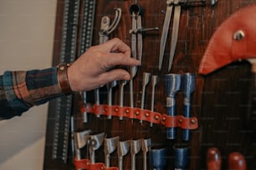
[[[203,54],[199,73],[208,74],[230,62],[255,58],[255,10],[256,3],[243,7],[218,27]]]

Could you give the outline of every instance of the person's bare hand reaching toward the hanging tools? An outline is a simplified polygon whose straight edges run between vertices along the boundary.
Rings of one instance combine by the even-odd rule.
[[[68,77],[74,92],[89,91],[115,80],[130,80],[130,73],[115,66],[138,66],[131,48],[118,38],[90,47],[69,68]],[[111,69],[113,68],[113,69]]]

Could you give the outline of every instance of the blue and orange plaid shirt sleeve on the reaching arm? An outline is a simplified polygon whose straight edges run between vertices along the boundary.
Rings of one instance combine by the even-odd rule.
[[[62,95],[56,67],[6,71],[0,76],[0,118],[20,116],[30,107]]]

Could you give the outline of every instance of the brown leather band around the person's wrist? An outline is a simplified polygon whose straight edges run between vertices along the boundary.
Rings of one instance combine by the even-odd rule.
[[[69,63],[59,63],[57,66],[57,77],[59,82],[59,87],[61,92],[64,94],[70,94],[72,91],[71,87],[69,86],[69,77],[68,77],[68,67],[70,66]]]

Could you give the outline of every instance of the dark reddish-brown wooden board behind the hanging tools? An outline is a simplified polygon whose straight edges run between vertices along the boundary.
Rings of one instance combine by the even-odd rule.
[[[124,42],[131,46],[131,15],[129,7],[133,3],[129,1],[105,1],[99,0],[96,5],[94,45],[99,43],[100,19],[102,16],[115,16],[115,7],[122,9],[122,18],[120,25],[111,37],[120,37]],[[159,27],[159,32],[146,32],[143,38],[143,56],[142,65],[139,67],[134,82],[135,107],[141,106],[141,77],[142,72],[151,72],[160,77],[160,82],[156,86],[156,112],[166,112],[166,96],[164,92],[164,75],[167,71],[168,56],[171,47],[171,34],[166,44],[166,53],[161,71],[158,69],[159,47],[161,39],[161,29],[166,10],[165,0],[139,0],[139,5],[144,8],[142,26],[144,28]],[[189,169],[206,169],[207,148],[217,147],[223,156],[223,169],[227,169],[228,154],[234,151],[243,153],[248,163],[248,169],[256,168],[256,138],[255,133],[246,128],[244,124],[244,114],[246,113],[249,67],[248,62],[234,62],[227,67],[223,67],[217,72],[208,76],[198,75],[197,69],[202,59],[204,50],[207,47],[212,33],[218,26],[228,18],[232,13],[241,7],[245,7],[255,1],[253,0],[219,0],[214,6],[210,6],[207,1],[205,7],[182,8],[180,20],[179,35],[177,41],[176,55],[173,60],[171,72],[183,73],[193,72],[196,74],[196,88],[192,94],[192,115],[199,120],[199,128],[192,132],[192,138],[189,141],[191,147],[191,158]],[[61,26],[61,6],[59,1],[59,10],[57,13],[57,23],[54,43],[54,56],[59,56],[59,27]],[[56,62],[54,62],[55,64]],[[119,103],[119,92],[115,89],[114,104]],[[102,97],[105,95],[102,94]],[[182,93],[177,94],[177,112],[182,114]],[[104,100],[103,102],[106,103]],[[146,89],[146,106],[150,108],[151,90]],[[125,105],[129,106],[129,89],[125,87]],[[74,107],[79,107],[74,103]],[[77,109],[79,110],[79,109]],[[79,113],[74,113],[77,119],[76,130],[92,129],[95,133],[105,132],[108,137],[120,136],[120,140],[129,140],[137,138],[151,138],[155,145],[164,145],[172,148],[174,143],[185,143],[182,141],[182,131],[177,129],[176,140],[166,140],[166,128],[154,125],[152,128],[149,123],[141,123],[137,120],[125,119],[120,121],[117,117],[107,120],[105,117],[96,118],[90,115],[88,123],[79,122]],[[50,121],[50,118],[49,118]],[[51,128],[52,124],[48,128]],[[47,143],[50,140],[47,139]],[[96,153],[97,162],[104,162],[103,148]],[[114,153],[114,157],[116,153]],[[138,156],[142,156],[141,153]],[[46,155],[45,158],[49,156]],[[173,169],[173,155],[168,153],[170,162],[167,168]],[[45,159],[45,165],[49,165],[49,159]],[[70,164],[70,162],[68,163]],[[116,158],[111,159],[111,165],[117,166]],[[124,169],[131,169],[130,155],[125,157]],[[64,166],[65,167],[65,166]],[[59,167],[59,169],[64,169]],[[68,166],[69,169],[70,165]],[[166,168],[166,169],[167,169]],[[45,168],[50,169],[50,168]],[[137,158],[136,169],[142,169],[141,158]]]

